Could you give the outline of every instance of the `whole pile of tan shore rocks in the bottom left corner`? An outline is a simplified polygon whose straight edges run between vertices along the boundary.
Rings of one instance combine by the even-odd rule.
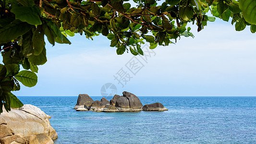
[[[4,109],[0,115],[0,144],[53,144],[58,134],[50,126],[50,118],[32,105],[9,112]]]

